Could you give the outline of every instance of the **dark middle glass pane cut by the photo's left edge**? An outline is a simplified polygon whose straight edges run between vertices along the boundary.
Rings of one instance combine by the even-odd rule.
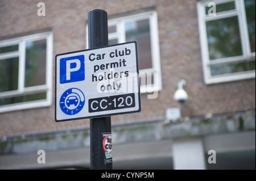
[[[19,58],[0,60],[0,92],[18,89]]]

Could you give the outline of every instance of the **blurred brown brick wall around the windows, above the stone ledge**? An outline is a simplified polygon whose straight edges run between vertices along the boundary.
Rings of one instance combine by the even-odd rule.
[[[142,94],[141,113],[112,116],[113,124],[164,117],[166,108],[179,107],[173,95],[180,79],[187,82],[184,89],[189,96],[184,116],[255,109],[255,79],[204,84],[196,0],[43,1],[46,16],[37,15],[39,2],[2,0],[0,39],[50,29],[53,32],[55,56],[58,53],[85,49],[85,28],[88,12],[92,9],[104,9],[109,17],[149,8],[154,8],[158,13],[163,89],[157,99],[147,99],[147,95]],[[54,70],[53,67],[53,73]],[[0,136],[86,126],[89,126],[89,120],[55,123],[54,105],[0,113]]]

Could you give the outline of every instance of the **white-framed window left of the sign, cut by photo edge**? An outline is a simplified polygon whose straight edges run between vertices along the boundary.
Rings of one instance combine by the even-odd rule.
[[[0,41],[0,112],[51,102],[52,33]]]

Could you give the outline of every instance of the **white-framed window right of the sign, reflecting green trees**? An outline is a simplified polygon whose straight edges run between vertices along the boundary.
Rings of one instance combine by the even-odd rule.
[[[205,83],[255,78],[255,0],[201,1],[197,11]]]

